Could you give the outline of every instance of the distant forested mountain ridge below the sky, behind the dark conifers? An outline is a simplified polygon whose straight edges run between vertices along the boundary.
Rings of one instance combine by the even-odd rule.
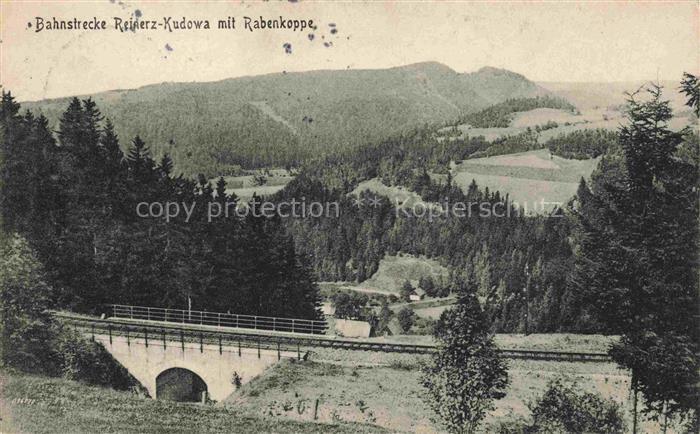
[[[119,137],[140,134],[175,173],[230,175],[242,166],[297,166],[425,124],[446,125],[508,98],[547,95],[495,68],[460,74],[439,63],[313,71],[213,83],[163,83],[93,96]],[[24,104],[49,128],[69,99]],[[125,149],[124,149],[125,150]]]

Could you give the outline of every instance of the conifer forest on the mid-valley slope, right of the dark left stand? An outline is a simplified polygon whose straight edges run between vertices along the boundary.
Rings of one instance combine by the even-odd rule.
[[[573,265],[569,220],[559,214],[522,216],[507,197],[475,183],[465,193],[449,176],[446,183],[433,181],[420,163],[439,160],[441,147],[430,144],[424,134],[415,133],[368,147],[342,163],[314,165],[315,170],[279,193],[278,199],[304,196],[341,204],[340,219],[287,221],[297,249],[312,258],[319,278],[361,282],[377,270],[385,254],[426,255],[448,266],[450,291],[473,291],[486,301],[496,330],[593,330],[566,284]],[[388,185],[409,187],[427,202],[472,203],[472,216],[445,214],[430,221],[397,213],[396,204],[382,197],[378,206],[370,206],[369,200],[357,206],[347,194],[359,181],[377,176]],[[482,217],[482,204],[511,217]]]

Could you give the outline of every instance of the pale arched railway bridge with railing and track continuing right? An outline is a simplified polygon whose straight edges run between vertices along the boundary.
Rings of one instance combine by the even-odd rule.
[[[157,399],[223,400],[282,358],[306,358],[309,349],[340,348],[429,354],[434,345],[339,339],[326,323],[229,313],[110,305],[92,317],[54,316],[100,342]],[[501,349],[506,358],[607,362],[607,354]]]

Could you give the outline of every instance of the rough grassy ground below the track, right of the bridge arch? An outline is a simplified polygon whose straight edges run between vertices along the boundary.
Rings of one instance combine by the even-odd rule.
[[[428,356],[319,349],[310,361],[285,361],[272,367],[231,395],[226,404],[305,421],[313,418],[318,402],[320,421],[372,423],[392,432],[444,432],[423,400],[420,366],[427,361]],[[485,432],[492,432],[499,421],[528,418],[528,403],[556,378],[621,403],[629,417],[629,376],[612,363],[511,360],[508,372],[507,396],[487,416]],[[658,430],[655,422],[642,422],[642,432]]]

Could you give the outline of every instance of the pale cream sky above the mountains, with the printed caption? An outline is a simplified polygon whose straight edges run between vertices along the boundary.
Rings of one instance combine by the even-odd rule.
[[[0,84],[20,101],[425,61],[458,72],[494,66],[535,81],[677,81],[683,71],[700,71],[697,1],[0,2]],[[114,17],[138,15],[208,19],[212,29],[113,28]],[[236,17],[237,29],[219,30],[218,20],[228,16]],[[244,16],[310,19],[317,28],[250,32],[241,28]],[[36,17],[97,17],[107,30],[36,32]]]

